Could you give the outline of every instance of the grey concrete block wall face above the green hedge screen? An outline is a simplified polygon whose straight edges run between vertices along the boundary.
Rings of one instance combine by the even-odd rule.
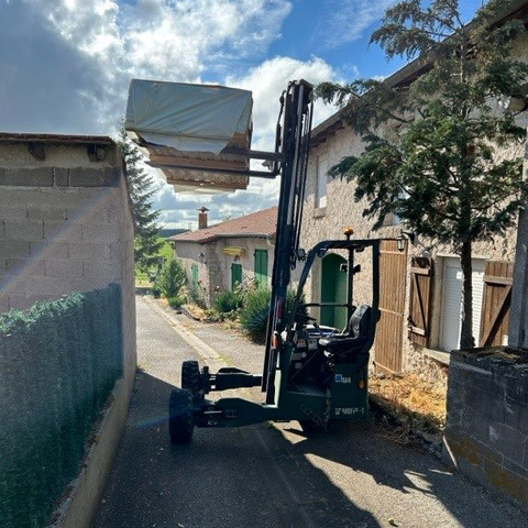
[[[133,235],[118,153],[92,163],[86,146],[46,151],[37,162],[23,144],[0,144],[2,311],[123,277]]]

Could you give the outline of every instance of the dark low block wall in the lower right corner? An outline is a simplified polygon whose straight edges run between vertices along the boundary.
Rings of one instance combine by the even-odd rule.
[[[528,510],[528,354],[452,353],[444,459]]]

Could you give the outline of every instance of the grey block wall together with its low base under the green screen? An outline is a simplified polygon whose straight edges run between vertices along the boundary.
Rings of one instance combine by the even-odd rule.
[[[37,161],[26,143],[0,141],[0,312],[72,292],[119,283],[123,377],[99,425],[81,473],[54,526],[84,528],[97,507],[127,419],[136,366],[134,228],[122,158],[105,140],[103,160],[86,143],[56,139]]]

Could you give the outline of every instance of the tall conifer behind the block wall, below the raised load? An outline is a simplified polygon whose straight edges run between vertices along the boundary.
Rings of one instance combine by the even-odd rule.
[[[127,163],[127,178],[130,198],[135,216],[134,258],[138,267],[145,272],[157,263],[163,240],[160,239],[160,227],[156,223],[160,211],[152,209],[152,177],[141,166],[142,154],[127,138],[124,129],[120,131],[119,148]]]

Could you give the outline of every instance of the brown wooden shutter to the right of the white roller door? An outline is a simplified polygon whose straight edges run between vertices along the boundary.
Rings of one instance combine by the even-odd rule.
[[[513,277],[514,263],[486,262],[479,346],[501,345],[508,334]]]

